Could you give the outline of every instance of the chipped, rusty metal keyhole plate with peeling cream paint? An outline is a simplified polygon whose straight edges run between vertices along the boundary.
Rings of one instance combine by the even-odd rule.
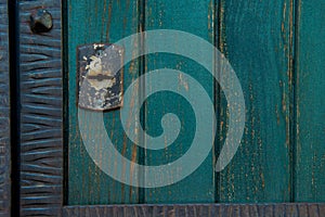
[[[123,49],[116,44],[92,43],[78,47],[77,55],[78,106],[92,111],[121,107]]]

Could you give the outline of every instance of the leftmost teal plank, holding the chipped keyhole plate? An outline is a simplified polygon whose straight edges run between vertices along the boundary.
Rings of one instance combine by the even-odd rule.
[[[80,44],[94,42],[114,43],[123,37],[136,34],[139,23],[139,1],[68,1],[68,204],[130,204],[139,202],[139,190],[114,180],[104,174],[90,158],[84,149],[78,126],[78,110],[76,106],[76,77],[77,53]],[[134,41],[136,43],[136,41]],[[138,44],[134,44],[132,52],[138,52]],[[129,50],[128,50],[129,51]],[[134,60],[123,68],[123,89],[138,78],[139,61]],[[136,92],[134,92],[136,95]],[[136,98],[134,99],[136,100]],[[123,107],[132,107],[134,102],[125,102]],[[93,114],[91,111],[83,111],[83,118]],[[139,158],[139,149],[126,136],[126,130],[135,130],[134,126],[123,129],[120,123],[119,110],[109,111],[104,114],[105,127],[117,150],[132,161]],[[129,116],[129,120],[136,118]],[[101,138],[98,131],[100,123],[89,120],[87,129],[95,138]],[[98,148],[102,149],[103,141],[96,139]],[[104,152],[102,150],[101,152]],[[109,164],[108,158],[101,158],[99,164]],[[115,162],[116,163],[116,162]],[[131,173],[131,171],[123,171]]]

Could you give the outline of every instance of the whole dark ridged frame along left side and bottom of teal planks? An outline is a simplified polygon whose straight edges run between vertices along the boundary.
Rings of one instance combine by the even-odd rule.
[[[0,0],[0,215],[21,216],[321,216],[325,204],[64,205],[64,79],[61,0],[22,0],[20,8],[21,136],[10,141],[8,1]],[[32,34],[29,15],[47,9],[54,26]],[[16,100],[16,99],[11,99]],[[14,113],[15,111],[12,111]],[[20,145],[20,207],[11,207],[11,145]]]

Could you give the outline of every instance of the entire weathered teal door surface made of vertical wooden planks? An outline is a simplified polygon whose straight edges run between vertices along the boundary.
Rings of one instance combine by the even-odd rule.
[[[322,0],[68,0],[67,204],[324,202],[324,8]],[[151,71],[174,68],[197,80],[216,110],[216,135],[213,125],[206,127],[208,137],[216,136],[214,143],[199,168],[177,183],[148,189],[114,180],[84,149],[77,124],[76,50],[80,44],[114,43],[154,29],[186,31],[218,48],[240,81],[246,122],[236,155],[225,169],[216,173],[229,130],[227,102],[217,80],[193,60],[170,53],[148,54],[125,65],[125,89]],[[132,49],[135,55],[145,48],[135,40]],[[203,52],[199,47],[197,52]],[[151,86],[151,80],[142,85]],[[186,88],[182,78],[178,88]],[[144,95],[144,88],[139,86],[134,94]],[[126,103],[121,110],[132,106],[134,102]],[[86,116],[90,113],[82,111]],[[146,133],[157,137],[162,133],[160,122],[167,113],[178,115],[181,130],[172,145],[158,151],[140,148],[128,139],[126,130],[140,126],[122,128],[120,110],[104,113],[104,122],[107,135],[125,157],[143,165],[161,165],[184,155],[193,141],[195,114],[186,99],[158,92],[146,99],[139,116],[128,117],[140,118]],[[87,129],[96,135],[96,126],[89,122]],[[138,139],[146,143],[141,135]]]

